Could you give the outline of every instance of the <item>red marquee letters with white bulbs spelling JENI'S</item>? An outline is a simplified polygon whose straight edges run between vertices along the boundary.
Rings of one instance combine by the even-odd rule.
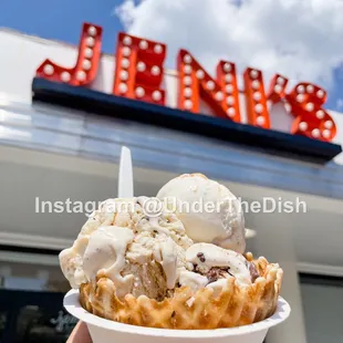
[[[84,23],[74,67],[66,69],[45,60],[37,70],[37,76],[75,86],[90,85],[96,77],[101,58],[102,28]],[[166,45],[121,32],[115,54],[113,94],[165,105],[162,89]],[[236,65],[219,61],[216,77],[200,65],[187,50],[177,55],[178,108],[199,113],[200,100],[205,101],[216,116],[241,122]],[[322,107],[326,92],[312,83],[299,83],[290,92],[288,79],[276,74],[264,90],[262,72],[248,67],[243,72],[248,124],[270,128],[268,102],[282,102],[294,116],[291,134],[331,142],[336,125]]]

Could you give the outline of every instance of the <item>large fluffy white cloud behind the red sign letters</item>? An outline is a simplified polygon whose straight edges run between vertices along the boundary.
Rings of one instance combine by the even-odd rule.
[[[126,0],[116,13],[131,34],[166,43],[172,69],[185,48],[210,74],[224,59],[240,73],[249,65],[330,87],[343,61],[341,0]]]

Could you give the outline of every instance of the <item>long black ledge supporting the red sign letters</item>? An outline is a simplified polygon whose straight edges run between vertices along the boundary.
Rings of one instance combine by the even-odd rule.
[[[32,91],[34,101],[214,137],[294,159],[324,164],[342,152],[342,147],[336,144],[197,115],[44,79],[33,79]]]

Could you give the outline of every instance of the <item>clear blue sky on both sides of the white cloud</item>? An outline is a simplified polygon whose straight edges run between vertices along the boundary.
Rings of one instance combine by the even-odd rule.
[[[82,23],[90,21],[104,28],[103,51],[113,53],[116,34],[124,30],[113,10],[122,2],[123,0],[2,0],[0,27],[76,44]],[[343,110],[343,101],[337,105],[339,100],[343,98],[342,70],[334,71],[334,86],[329,92],[328,108]]]

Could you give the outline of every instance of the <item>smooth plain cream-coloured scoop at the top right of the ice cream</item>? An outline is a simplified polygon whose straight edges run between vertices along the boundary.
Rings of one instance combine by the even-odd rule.
[[[194,241],[245,252],[240,202],[224,185],[201,174],[185,174],[164,185],[157,198],[165,199],[169,209],[175,210]]]

